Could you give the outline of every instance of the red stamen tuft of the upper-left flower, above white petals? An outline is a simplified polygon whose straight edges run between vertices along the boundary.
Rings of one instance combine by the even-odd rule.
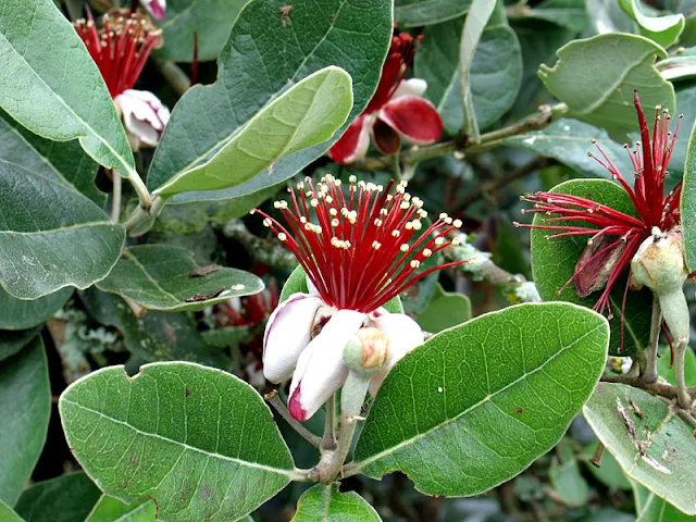
[[[141,11],[121,10],[102,17],[97,28],[91,12],[73,23],[97,63],[112,98],[133,88],[152,49],[161,46],[162,32]]]

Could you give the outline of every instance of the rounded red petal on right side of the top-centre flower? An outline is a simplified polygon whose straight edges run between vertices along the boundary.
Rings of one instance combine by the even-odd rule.
[[[380,117],[410,144],[434,144],[443,134],[443,119],[435,105],[417,96],[389,101],[380,111]]]

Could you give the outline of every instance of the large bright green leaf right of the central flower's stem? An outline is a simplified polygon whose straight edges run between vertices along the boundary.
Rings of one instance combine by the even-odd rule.
[[[373,478],[401,471],[426,495],[490,489],[558,443],[599,380],[608,340],[604,318],[568,303],[447,330],[387,375],[355,465]]]

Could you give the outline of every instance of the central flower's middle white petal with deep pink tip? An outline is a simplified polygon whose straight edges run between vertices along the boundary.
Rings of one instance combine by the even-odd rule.
[[[346,382],[348,368],[344,348],[356,335],[365,314],[338,310],[302,351],[290,384],[288,410],[298,421],[306,421]]]

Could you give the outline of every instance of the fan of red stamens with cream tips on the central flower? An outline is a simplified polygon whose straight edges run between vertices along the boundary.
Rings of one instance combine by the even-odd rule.
[[[262,211],[251,213],[265,217],[263,224],[295,254],[325,303],[368,313],[427,274],[463,263],[415,273],[431,256],[459,244],[447,234],[461,221],[443,213],[423,231],[427,212],[406,187],[391,181],[385,189],[350,176],[346,195],[340,179],[326,175],[314,186],[308,177],[297,192],[288,188],[289,202],[274,204],[287,228]]]

